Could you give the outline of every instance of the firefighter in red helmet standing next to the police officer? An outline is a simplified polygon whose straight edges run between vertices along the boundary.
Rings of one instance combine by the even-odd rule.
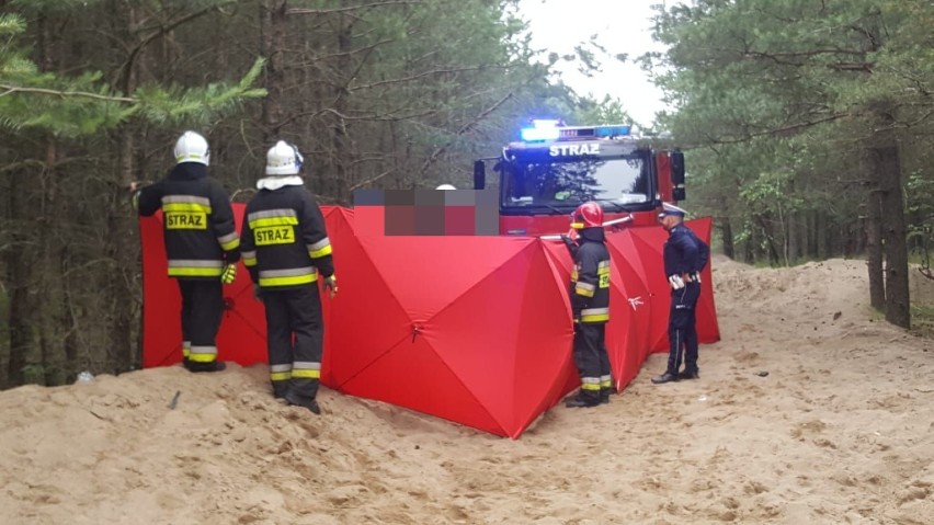
[[[578,207],[571,227],[578,231],[571,250],[571,311],[574,319],[574,364],[581,388],[566,403],[569,408],[595,407],[610,402],[613,378],[606,353],[606,322],[610,320],[610,251],[603,231],[603,209],[588,202]]]

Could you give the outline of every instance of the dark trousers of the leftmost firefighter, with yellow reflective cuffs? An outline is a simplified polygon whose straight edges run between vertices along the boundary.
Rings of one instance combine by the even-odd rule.
[[[217,361],[217,331],[224,318],[220,278],[179,278],[182,294],[182,346],[191,363]]]

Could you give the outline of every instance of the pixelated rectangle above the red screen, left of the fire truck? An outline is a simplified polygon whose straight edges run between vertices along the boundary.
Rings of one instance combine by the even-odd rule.
[[[386,236],[497,236],[499,206],[494,190],[356,190],[354,208],[366,209],[363,217],[381,220],[357,221]],[[360,216],[360,215],[358,215]]]

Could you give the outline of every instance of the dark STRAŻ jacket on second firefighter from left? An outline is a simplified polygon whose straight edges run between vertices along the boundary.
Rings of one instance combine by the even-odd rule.
[[[324,216],[305,186],[260,190],[247,204],[243,265],[262,288],[284,289],[334,273]]]

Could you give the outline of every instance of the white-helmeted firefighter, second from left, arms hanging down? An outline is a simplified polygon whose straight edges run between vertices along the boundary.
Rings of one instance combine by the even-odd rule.
[[[283,140],[270,148],[241,238],[243,264],[265,307],[273,396],[319,414],[324,326],[318,281],[331,297],[338,285],[324,217],[298,174],[301,161]]]

